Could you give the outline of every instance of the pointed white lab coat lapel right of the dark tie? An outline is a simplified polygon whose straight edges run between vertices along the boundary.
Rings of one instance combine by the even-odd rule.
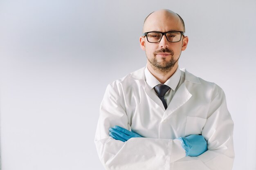
[[[169,115],[171,115],[175,110],[184,105],[192,96],[191,93],[189,93],[188,89],[186,88],[185,84],[186,81],[180,85],[177,92],[173,96],[173,99],[171,100],[170,104],[166,109],[166,112],[164,113],[162,121],[166,119]]]

